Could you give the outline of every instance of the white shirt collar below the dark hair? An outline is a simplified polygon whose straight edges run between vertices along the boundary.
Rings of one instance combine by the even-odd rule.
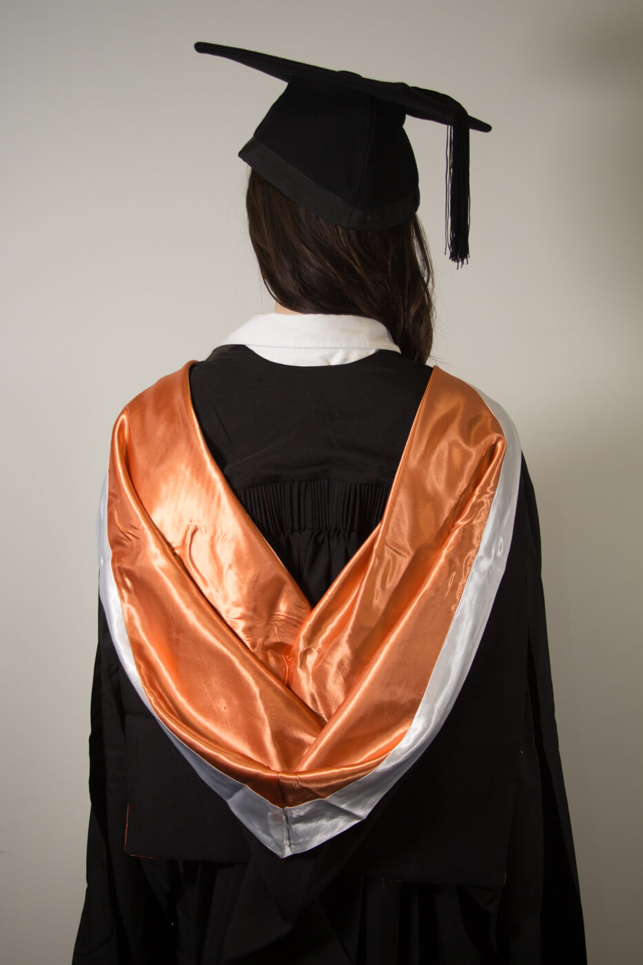
[[[355,315],[254,315],[221,345],[247,345],[271,362],[341,365],[384,349],[399,352],[388,329],[375,318]]]

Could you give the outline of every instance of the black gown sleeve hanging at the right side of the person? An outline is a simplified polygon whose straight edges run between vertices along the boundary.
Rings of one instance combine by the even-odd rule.
[[[524,458],[521,483],[529,523],[527,686],[498,946],[503,962],[584,965],[582,906],[549,663],[538,510]]]

